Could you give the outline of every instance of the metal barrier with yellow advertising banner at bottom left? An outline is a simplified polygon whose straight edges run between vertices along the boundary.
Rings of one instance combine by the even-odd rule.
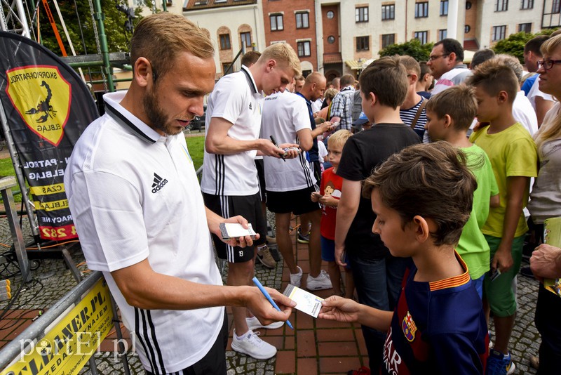
[[[129,375],[116,304],[102,272],[92,272],[0,350],[0,374],[78,374],[86,362],[91,374],[99,374],[94,354],[111,327]]]

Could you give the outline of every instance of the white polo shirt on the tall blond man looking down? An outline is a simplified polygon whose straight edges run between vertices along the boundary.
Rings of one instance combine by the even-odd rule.
[[[234,124],[228,136],[236,140],[259,138],[263,96],[250,71],[242,66],[236,73],[222,77],[210,93],[207,103],[205,132],[210,119],[221,117]],[[223,155],[205,150],[201,190],[212,195],[254,195],[259,192],[257,169],[253,159],[257,150]]]

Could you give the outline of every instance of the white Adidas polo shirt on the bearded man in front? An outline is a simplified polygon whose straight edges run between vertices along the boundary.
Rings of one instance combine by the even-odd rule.
[[[214,285],[222,279],[183,134],[158,135],[119,105],[124,95],[104,95],[106,113],[76,143],[65,188],[88,267],[103,272],[123,322],[136,336],[142,365],[170,373],[208,353],[224,308],[134,308],[110,272],[148,259],[165,275]]]

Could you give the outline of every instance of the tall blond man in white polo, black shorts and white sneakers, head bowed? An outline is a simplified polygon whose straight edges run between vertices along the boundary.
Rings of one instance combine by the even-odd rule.
[[[231,217],[242,215],[261,235],[255,246],[265,249],[266,221],[261,209],[259,183],[254,158],[257,154],[280,158],[282,147],[271,140],[259,139],[263,93],[284,91],[300,73],[300,62],[292,47],[277,43],[265,48],[251,67],[222,77],[208,98],[205,154],[201,190],[205,204],[213,212]],[[296,157],[290,152],[286,157]],[[228,284],[250,285],[255,267],[253,247],[241,249],[224,244],[213,236],[219,258],[228,261]],[[233,308],[234,339],[232,348],[259,360],[276,355],[276,348],[253,333],[264,327],[248,310]],[[269,328],[280,327],[282,322]]]

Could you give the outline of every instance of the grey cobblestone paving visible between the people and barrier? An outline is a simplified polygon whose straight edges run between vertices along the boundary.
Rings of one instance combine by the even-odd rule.
[[[274,223],[274,220],[269,218],[269,222]],[[23,228],[24,234],[29,241],[31,239],[31,231],[29,230],[27,218],[23,219]],[[11,244],[10,230],[5,218],[0,218],[0,243]],[[83,254],[80,251],[74,251],[72,256],[76,264],[83,262]],[[524,265],[523,263],[522,266]],[[80,265],[79,268],[83,272],[87,272],[86,265]],[[6,267],[6,264],[0,264],[0,279],[5,278],[3,275],[9,272],[17,271],[17,268],[14,266],[8,265]],[[226,268],[222,267],[222,273],[223,275],[226,274]],[[262,280],[263,284],[277,289],[280,289],[281,286],[282,273],[283,266],[281,263],[274,270],[268,270],[260,264],[256,266],[257,277]],[[20,298],[18,298],[11,309],[18,311],[26,310],[26,313],[31,315],[35,312],[39,314],[40,310],[53,305],[76,285],[74,278],[62,260],[41,261],[39,268],[33,272],[32,276],[32,282],[24,285]],[[13,290],[18,289],[21,284],[21,277],[16,275],[10,277],[10,279],[13,282]],[[536,355],[540,342],[539,334],[534,326],[537,290],[538,282],[536,280],[521,275],[518,276],[519,310],[511,339],[511,352],[517,367],[515,374],[535,373],[535,370],[529,367],[528,359],[530,355]],[[6,302],[0,303],[0,314],[4,308],[6,308]],[[29,312],[29,310],[32,311]],[[0,327],[0,336],[4,337],[4,335],[1,335],[2,331],[3,328]],[[492,325],[490,331],[493,335]],[[123,367],[119,360],[115,358],[114,353],[98,353],[95,355],[95,359],[100,374],[123,374]],[[133,374],[144,374],[137,356],[134,354],[130,355],[129,360]],[[229,351],[227,353],[228,374],[273,375],[275,373],[275,361],[275,358],[268,361],[253,360],[252,358]],[[81,374],[90,374],[88,367],[84,368]]]

